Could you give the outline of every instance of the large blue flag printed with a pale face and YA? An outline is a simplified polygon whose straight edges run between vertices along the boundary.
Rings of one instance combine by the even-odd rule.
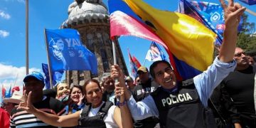
[[[97,58],[80,41],[75,29],[46,29],[46,43],[51,68],[58,70],[90,70],[97,75]]]

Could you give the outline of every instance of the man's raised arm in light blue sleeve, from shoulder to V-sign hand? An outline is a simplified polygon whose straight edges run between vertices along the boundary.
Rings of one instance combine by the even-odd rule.
[[[238,37],[238,24],[240,16],[245,11],[244,7],[240,4],[234,4],[233,0],[228,2],[228,6],[224,0],[220,0],[220,2],[225,11],[225,31],[220,54],[213,61],[213,65],[210,65],[207,70],[193,78],[198,95],[205,107],[208,106],[207,101],[214,88],[235,69],[236,63],[233,61],[233,56]]]

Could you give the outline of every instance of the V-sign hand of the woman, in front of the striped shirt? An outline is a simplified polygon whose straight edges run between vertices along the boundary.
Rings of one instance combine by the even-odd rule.
[[[26,95],[26,90],[24,91],[24,102],[20,102],[18,105],[18,110],[25,110],[28,113],[33,113],[36,111],[36,108],[33,106],[33,104],[31,103],[31,92],[28,93],[28,95]]]

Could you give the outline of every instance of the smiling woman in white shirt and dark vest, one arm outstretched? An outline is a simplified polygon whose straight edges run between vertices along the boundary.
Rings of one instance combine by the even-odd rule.
[[[117,95],[120,97],[117,107],[112,102],[102,101],[102,90],[97,80],[87,80],[83,90],[87,105],[73,114],[58,116],[36,109],[31,104],[31,92],[25,95],[25,102],[21,102],[18,109],[26,110],[43,122],[56,127],[132,127],[132,117],[124,102],[124,92]]]

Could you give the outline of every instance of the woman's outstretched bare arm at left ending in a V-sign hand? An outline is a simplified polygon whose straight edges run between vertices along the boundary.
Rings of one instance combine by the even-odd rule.
[[[26,94],[26,92],[24,92]],[[20,102],[18,105],[18,110],[25,110],[28,113],[34,114],[41,121],[46,122],[46,124],[53,125],[55,127],[75,127],[78,125],[78,119],[80,117],[80,111],[73,114],[68,114],[64,116],[58,116],[56,114],[49,114],[41,110],[36,109],[31,103],[31,92],[28,96],[24,96],[25,102]]]

